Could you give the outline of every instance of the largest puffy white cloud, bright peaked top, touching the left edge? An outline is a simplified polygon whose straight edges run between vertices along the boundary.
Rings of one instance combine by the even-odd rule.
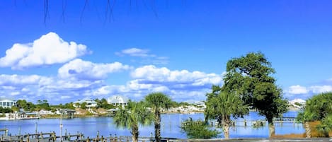
[[[87,53],[85,45],[66,42],[55,32],[50,32],[33,43],[14,44],[6,50],[6,56],[0,59],[0,66],[25,69],[31,66],[59,64]]]

